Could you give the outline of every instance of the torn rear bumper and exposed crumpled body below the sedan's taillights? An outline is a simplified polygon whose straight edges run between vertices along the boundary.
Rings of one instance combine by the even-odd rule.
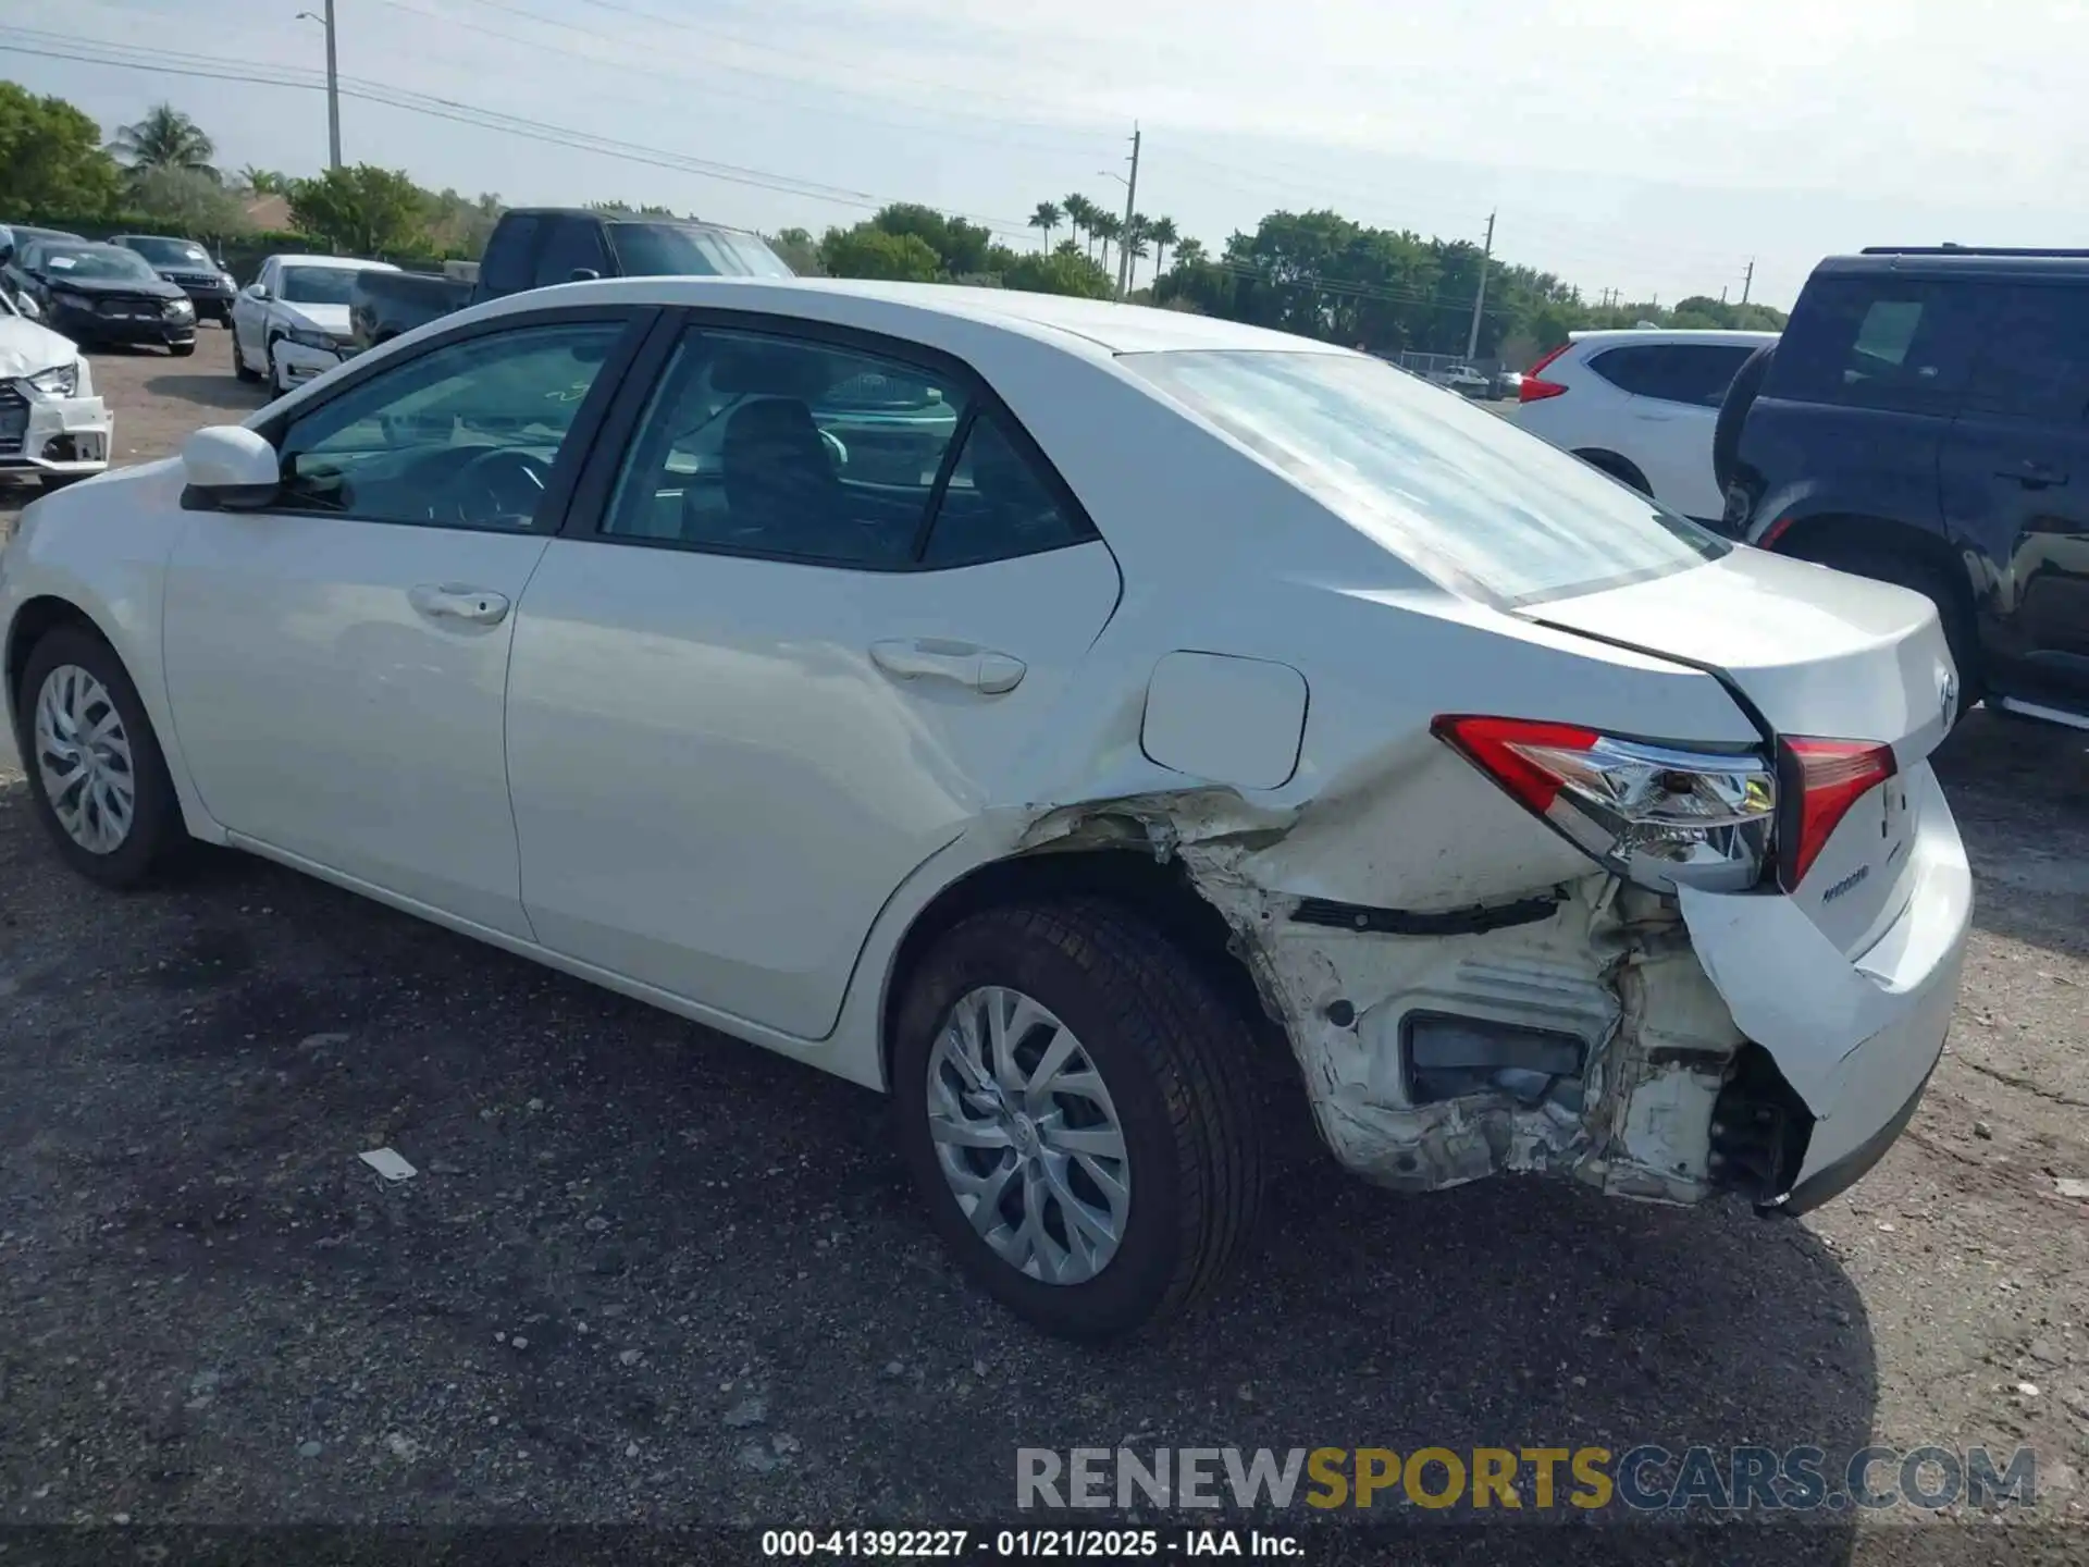
[[[1803,1212],[1899,1137],[1957,995],[1972,873],[1934,777],[1907,781],[1926,796],[1909,898],[1855,959],[1769,892],[1677,901],[1594,875],[1550,909],[1527,898],[1506,905],[1517,919],[1423,934],[1368,915],[1343,928],[1318,901],[1268,892],[1268,859],[1178,852],[1356,1174],[1433,1191],[1548,1172],[1619,1197],[1740,1191]],[[1418,1030],[1443,1018],[1462,1034],[1425,1053]],[[1748,1168],[1719,1124],[1736,1107],[1776,1141]]]

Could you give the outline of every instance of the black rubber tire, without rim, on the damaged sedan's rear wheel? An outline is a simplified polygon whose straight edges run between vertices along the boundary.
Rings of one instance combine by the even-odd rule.
[[[1084,1283],[1042,1283],[1005,1262],[938,1164],[930,1053],[959,999],[982,986],[1049,1007],[1118,1112],[1130,1208],[1116,1254]],[[1093,898],[978,913],[913,969],[894,1028],[898,1143],[930,1222],[973,1283],[1042,1331],[1099,1341],[1157,1325],[1205,1295],[1253,1233],[1264,1189],[1253,1036],[1195,959],[1136,913]]]

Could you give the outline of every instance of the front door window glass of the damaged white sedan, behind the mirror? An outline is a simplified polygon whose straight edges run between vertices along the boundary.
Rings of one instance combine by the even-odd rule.
[[[524,531],[625,326],[566,322],[449,343],[290,420],[282,506],[368,522]]]

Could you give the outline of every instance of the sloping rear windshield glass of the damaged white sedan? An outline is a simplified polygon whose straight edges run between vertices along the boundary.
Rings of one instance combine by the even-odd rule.
[[[1665,577],[1730,547],[1379,359],[1182,351],[1120,364],[1416,568],[1510,604]]]

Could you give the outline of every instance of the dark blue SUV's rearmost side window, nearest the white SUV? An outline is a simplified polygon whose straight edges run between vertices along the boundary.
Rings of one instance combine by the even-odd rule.
[[[1792,311],[1771,397],[1941,412],[1966,387],[1980,288],[1909,278],[1815,278]]]

